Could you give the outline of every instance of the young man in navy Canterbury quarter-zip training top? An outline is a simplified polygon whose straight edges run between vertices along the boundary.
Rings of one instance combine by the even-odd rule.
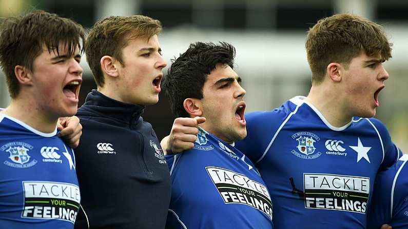
[[[158,102],[161,24],[147,16],[110,16],[96,22],[85,44],[98,90],[77,116],[76,149],[82,189],[75,228],[164,228],[170,176],[160,142],[141,114]]]

